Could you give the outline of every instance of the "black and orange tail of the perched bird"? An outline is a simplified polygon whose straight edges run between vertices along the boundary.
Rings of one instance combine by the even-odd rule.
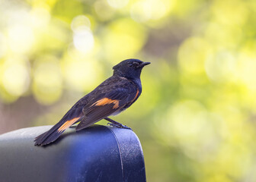
[[[72,124],[77,123],[79,118],[81,117],[72,118],[68,121],[62,118],[62,120],[55,124],[50,130],[37,136],[34,140],[34,145],[45,146],[49,143],[54,142],[68,127],[70,127]]]

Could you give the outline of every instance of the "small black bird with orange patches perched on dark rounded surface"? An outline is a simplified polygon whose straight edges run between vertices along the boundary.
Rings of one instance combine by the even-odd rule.
[[[78,122],[80,123],[75,127],[76,131],[102,119],[109,121],[111,127],[131,129],[109,116],[118,115],[136,102],[142,93],[140,74],[142,68],[148,64],[150,62],[130,58],[115,65],[111,77],[79,99],[50,130],[37,136],[34,145],[45,146],[53,143],[67,128]]]

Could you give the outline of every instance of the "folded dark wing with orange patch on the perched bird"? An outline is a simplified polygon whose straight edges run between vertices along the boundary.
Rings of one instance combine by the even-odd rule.
[[[85,106],[83,110],[84,118],[78,124],[76,130],[82,130],[103,118],[107,118],[125,105],[132,103],[138,96],[139,89],[133,84],[129,84],[129,86],[119,85],[101,93]]]

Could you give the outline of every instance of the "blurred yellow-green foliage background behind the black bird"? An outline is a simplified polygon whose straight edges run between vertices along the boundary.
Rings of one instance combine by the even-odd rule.
[[[254,0],[0,0],[0,133],[56,124],[139,58],[142,96],[114,118],[147,180],[254,182],[255,30]]]

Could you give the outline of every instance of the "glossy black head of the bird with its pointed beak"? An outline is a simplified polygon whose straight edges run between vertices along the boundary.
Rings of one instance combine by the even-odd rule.
[[[139,59],[126,59],[113,67],[113,75],[136,79],[140,77],[142,68],[147,64],[150,64],[150,62],[143,62]]]

